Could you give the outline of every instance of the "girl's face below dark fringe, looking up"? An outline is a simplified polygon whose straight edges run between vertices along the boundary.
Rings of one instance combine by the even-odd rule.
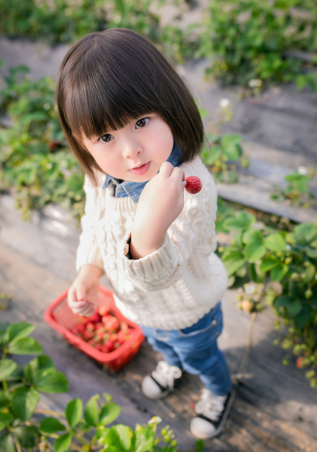
[[[158,113],[141,116],[119,130],[85,138],[83,144],[106,174],[131,182],[146,182],[159,171],[173,149],[169,125]]]

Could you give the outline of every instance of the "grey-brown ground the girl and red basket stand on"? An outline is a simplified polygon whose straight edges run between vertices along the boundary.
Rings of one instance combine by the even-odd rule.
[[[155,366],[159,354],[144,342],[137,356],[117,374],[102,370],[93,360],[70,346],[43,320],[46,307],[68,288],[75,276],[75,250],[79,229],[67,214],[50,206],[35,212],[33,222],[23,222],[10,196],[0,197],[0,291],[11,293],[1,321],[29,321],[37,326],[40,341],[70,389],[63,395],[46,395],[42,406],[63,409],[71,398],[85,402],[107,392],[121,408],[119,421],[131,426],[159,415],[174,430],[181,450],[193,450],[188,430],[193,405],[202,385],[186,378],[175,393],[158,402],[140,392],[143,376]],[[284,351],[273,345],[270,308],[256,318],[252,346],[244,367],[241,361],[248,342],[250,315],[236,307],[235,291],[223,299],[224,350],[236,387],[236,399],[221,435],[206,442],[207,452],[315,452],[317,451],[317,392],[304,371],[282,365]]]

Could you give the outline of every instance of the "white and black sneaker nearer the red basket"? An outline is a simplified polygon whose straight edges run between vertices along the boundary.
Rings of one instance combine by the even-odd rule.
[[[144,377],[141,385],[143,394],[148,398],[162,398],[173,391],[174,385],[183,375],[179,367],[159,361],[156,369]]]

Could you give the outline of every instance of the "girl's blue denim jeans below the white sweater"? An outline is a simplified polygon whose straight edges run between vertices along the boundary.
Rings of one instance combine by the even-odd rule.
[[[229,369],[217,347],[222,331],[222,311],[218,303],[191,327],[183,330],[156,330],[142,327],[153,348],[172,366],[199,375],[203,385],[213,394],[225,395],[231,389]]]

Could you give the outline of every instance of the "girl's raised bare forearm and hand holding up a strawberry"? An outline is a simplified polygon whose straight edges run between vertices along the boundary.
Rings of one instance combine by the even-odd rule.
[[[184,207],[185,174],[164,162],[144,187],[134,217],[130,256],[139,259],[158,249]]]

